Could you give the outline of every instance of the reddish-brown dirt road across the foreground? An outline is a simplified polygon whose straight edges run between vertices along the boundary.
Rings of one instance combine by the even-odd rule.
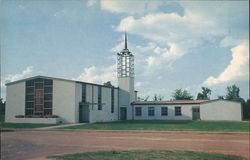
[[[1,141],[2,159],[11,160],[101,150],[185,150],[250,157],[248,134],[19,130],[2,132]]]

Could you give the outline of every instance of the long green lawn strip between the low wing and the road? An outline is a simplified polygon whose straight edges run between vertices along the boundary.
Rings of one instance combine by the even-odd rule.
[[[116,121],[60,129],[157,130],[157,131],[249,131],[249,122],[225,121]]]

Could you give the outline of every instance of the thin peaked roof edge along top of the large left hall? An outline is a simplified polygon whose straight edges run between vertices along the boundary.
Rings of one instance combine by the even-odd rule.
[[[14,81],[14,82],[9,82],[9,83],[6,83],[5,85],[8,86],[8,85],[12,85],[12,84],[20,83],[20,82],[25,82],[27,80],[32,80],[32,79],[35,79],[35,78],[53,79],[53,80],[66,81],[66,82],[74,82],[74,83],[85,83],[85,84],[89,84],[89,85],[95,85],[95,86],[102,86],[102,87],[107,87],[107,88],[113,88],[113,87],[109,87],[109,86],[105,86],[105,85],[101,85],[101,84],[95,84],[95,83],[89,83],[89,82],[82,82],[82,81],[75,81],[75,80],[63,79],[63,78],[41,76],[41,75],[33,76],[33,77],[21,79],[21,80],[17,80],[17,81]],[[114,87],[114,88],[118,89],[118,87]]]

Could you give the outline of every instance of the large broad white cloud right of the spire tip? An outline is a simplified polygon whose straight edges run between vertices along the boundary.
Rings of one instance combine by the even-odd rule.
[[[213,21],[204,20],[190,10],[185,10],[184,16],[176,13],[148,14],[137,19],[129,16],[121,20],[116,30],[123,31],[124,28],[127,32],[140,35],[154,44],[150,49],[155,54],[145,57],[148,73],[171,65],[173,61],[190,53],[202,40],[224,34],[216,32]]]

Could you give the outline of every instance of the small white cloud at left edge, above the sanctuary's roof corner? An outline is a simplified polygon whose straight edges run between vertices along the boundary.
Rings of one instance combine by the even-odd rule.
[[[14,82],[22,78],[25,78],[26,76],[30,75],[32,72],[33,72],[33,66],[28,66],[25,70],[22,71],[22,73],[9,74],[5,78],[3,78],[3,81],[1,82],[1,87],[5,87],[4,83]]]

